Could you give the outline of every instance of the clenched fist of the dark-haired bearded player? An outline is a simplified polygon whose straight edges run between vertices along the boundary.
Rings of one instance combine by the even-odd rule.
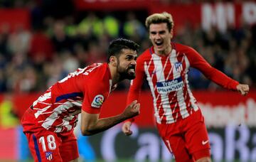
[[[124,118],[132,118],[139,114],[139,107],[140,104],[137,103],[137,100],[133,101],[131,104],[127,106],[126,109],[124,109],[124,112],[122,113],[124,115]]]

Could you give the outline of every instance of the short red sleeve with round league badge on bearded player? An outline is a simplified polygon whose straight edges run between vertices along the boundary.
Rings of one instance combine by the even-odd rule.
[[[100,108],[107,99],[108,90],[103,82],[90,81],[85,84],[82,110],[89,114],[100,114]]]

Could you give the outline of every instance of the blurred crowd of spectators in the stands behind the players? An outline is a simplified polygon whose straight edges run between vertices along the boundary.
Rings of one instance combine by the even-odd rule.
[[[54,12],[54,4],[52,10],[47,3],[43,10],[35,1],[15,5],[30,9],[31,30],[0,26],[0,92],[44,91],[77,68],[106,62],[107,47],[114,38],[139,43],[139,53],[151,45],[144,27],[145,11],[77,13],[65,10],[70,4],[63,4],[62,13],[61,9]],[[230,26],[220,33],[216,28],[203,31],[186,24],[174,33],[174,42],[190,45],[213,67],[256,87],[256,26]],[[219,88],[195,69],[189,72],[189,80],[196,90]],[[128,87],[124,81],[117,90]]]

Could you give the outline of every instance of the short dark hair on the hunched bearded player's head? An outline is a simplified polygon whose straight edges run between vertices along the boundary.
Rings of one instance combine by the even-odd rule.
[[[107,63],[110,63],[110,57],[112,55],[118,58],[119,54],[122,52],[122,49],[131,49],[131,50],[139,50],[139,45],[134,41],[117,38],[110,42],[109,48],[107,50]]]

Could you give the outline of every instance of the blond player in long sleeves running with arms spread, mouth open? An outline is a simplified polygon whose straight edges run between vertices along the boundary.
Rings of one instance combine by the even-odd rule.
[[[188,85],[188,69],[196,68],[218,85],[242,95],[247,95],[249,87],[211,67],[193,48],[171,42],[174,36],[171,14],[152,14],[146,18],[146,28],[153,46],[139,55],[127,103],[139,98],[146,77],[153,97],[156,126],[176,161],[210,161],[206,125]],[[124,134],[132,134],[132,121],[124,122]]]

